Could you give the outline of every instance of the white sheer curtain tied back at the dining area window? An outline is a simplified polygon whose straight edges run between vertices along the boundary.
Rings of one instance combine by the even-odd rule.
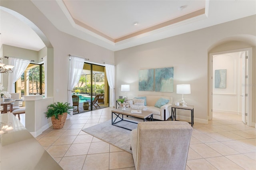
[[[12,58],[9,57],[9,65],[14,65],[12,69],[12,73],[9,73],[8,77],[8,89],[9,93],[15,93],[14,83],[20,78],[22,73],[24,73],[25,69],[28,67],[30,60]]]

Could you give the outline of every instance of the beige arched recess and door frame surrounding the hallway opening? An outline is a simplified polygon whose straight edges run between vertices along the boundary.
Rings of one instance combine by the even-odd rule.
[[[230,38],[225,38],[218,43],[215,43],[212,45],[212,48],[208,51],[209,53],[209,114],[208,118],[212,119],[212,113],[213,113],[213,95],[216,95],[214,93],[214,87],[213,87],[213,80],[214,80],[214,68],[213,68],[213,56],[217,56],[224,53],[235,53],[235,52],[242,52],[248,50],[248,83],[246,83],[246,88],[248,89],[248,123],[249,126],[255,126],[253,122],[255,122],[255,107],[252,105],[252,103],[255,103],[255,91],[252,91],[252,85],[255,84],[255,77],[253,76],[255,74],[255,69],[252,68],[252,64],[255,63],[255,59],[252,56],[255,56],[255,46],[256,42],[254,41],[254,36],[235,36]],[[237,60],[239,62],[239,60]],[[237,66],[236,66],[237,67]],[[238,68],[234,66],[234,70],[238,73]],[[233,71],[233,70],[232,70]],[[232,72],[231,71],[231,72]],[[235,75],[238,77],[237,75]],[[229,82],[230,83],[230,82]],[[239,93],[239,90],[236,91]],[[234,92],[234,94],[227,94],[226,95],[236,95],[241,98],[242,95],[237,94]],[[241,100],[241,99],[239,99]],[[219,103],[221,104],[221,103]],[[238,110],[239,113],[239,110]],[[241,112],[240,112],[241,114]]]

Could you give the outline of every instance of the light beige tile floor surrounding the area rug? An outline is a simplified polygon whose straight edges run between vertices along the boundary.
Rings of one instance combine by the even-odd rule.
[[[240,115],[214,113],[208,124],[194,123],[186,170],[255,170],[256,129]],[[134,170],[132,155],[86,134],[111,118],[111,108],[73,115],[60,130],[45,130],[37,140],[64,170]]]

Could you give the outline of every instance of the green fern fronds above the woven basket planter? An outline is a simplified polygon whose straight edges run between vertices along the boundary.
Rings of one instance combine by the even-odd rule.
[[[48,111],[45,113],[47,118],[54,116],[55,119],[58,119],[58,115],[63,115],[63,113],[70,114],[68,110],[73,109],[73,107],[70,106],[70,103],[68,102],[55,102],[53,104],[48,105],[47,109]]]

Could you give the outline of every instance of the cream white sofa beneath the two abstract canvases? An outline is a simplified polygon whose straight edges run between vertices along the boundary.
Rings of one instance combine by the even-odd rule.
[[[146,110],[146,111],[152,111],[153,112],[153,118],[166,121],[171,115],[172,115],[172,97],[169,96],[151,96],[151,95],[138,95],[138,97],[146,97],[146,107],[144,106],[138,106],[138,108],[132,108],[130,107],[130,103],[133,101],[127,101],[126,104],[128,107],[132,109],[140,109],[140,110]],[[161,106],[161,108],[155,107],[154,105],[158,101],[158,99],[164,98],[168,99],[169,102],[166,105]]]

